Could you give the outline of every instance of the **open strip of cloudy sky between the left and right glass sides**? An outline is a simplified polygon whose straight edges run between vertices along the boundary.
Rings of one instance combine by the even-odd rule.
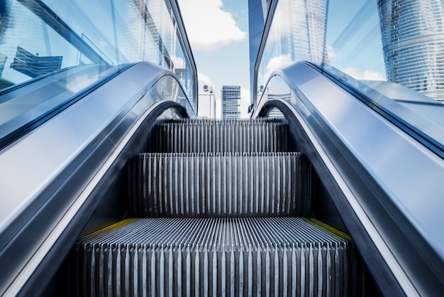
[[[221,88],[240,85],[241,117],[250,104],[248,0],[178,0],[198,71],[199,88],[213,87],[220,117]]]

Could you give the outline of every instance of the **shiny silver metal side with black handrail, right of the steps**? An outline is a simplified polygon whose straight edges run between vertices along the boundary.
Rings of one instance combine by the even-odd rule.
[[[267,90],[274,77],[293,95],[273,99],[264,92],[255,117],[266,115],[273,101],[291,105],[325,151],[323,162],[338,171],[344,193],[351,191],[394,255],[403,288],[421,294],[442,289],[443,158],[311,65],[275,71]]]

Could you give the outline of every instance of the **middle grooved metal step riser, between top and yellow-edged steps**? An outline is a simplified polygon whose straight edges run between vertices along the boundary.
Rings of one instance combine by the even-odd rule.
[[[135,217],[310,212],[310,167],[300,153],[140,153],[130,171]]]

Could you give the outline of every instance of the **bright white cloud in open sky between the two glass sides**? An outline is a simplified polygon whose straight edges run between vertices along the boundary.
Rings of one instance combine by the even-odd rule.
[[[179,0],[179,8],[194,50],[214,50],[247,37],[231,13],[222,10],[222,0]]]

